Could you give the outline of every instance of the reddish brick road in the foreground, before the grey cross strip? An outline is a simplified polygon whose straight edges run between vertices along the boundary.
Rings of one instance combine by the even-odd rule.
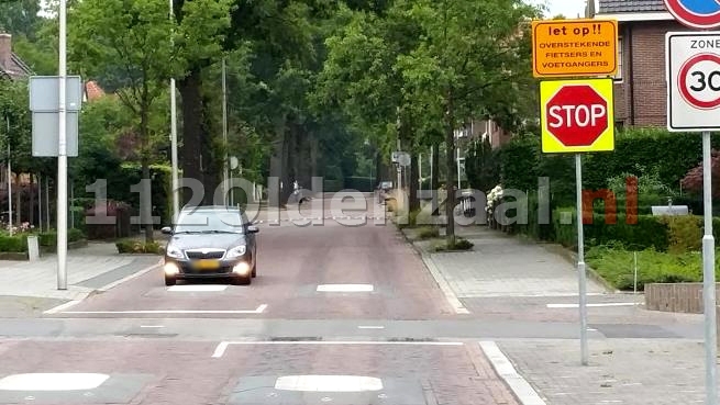
[[[21,404],[101,404],[106,402],[92,398],[115,395],[118,402],[133,405],[268,405],[279,404],[278,400],[286,405],[309,405],[314,404],[308,397],[312,393],[298,396],[274,390],[277,379],[308,374],[358,375],[381,379],[383,390],[370,393],[375,397],[373,403],[378,405],[518,405],[494,374],[477,344],[450,347],[231,346],[219,359],[210,357],[213,348],[214,344],[171,339],[2,341],[0,382],[18,373],[104,373],[111,378],[103,385],[114,385],[113,389],[100,385],[75,394],[57,393],[52,402],[43,401],[38,395],[42,393],[25,392],[16,402]],[[133,385],[137,381],[141,383]],[[258,381],[261,384],[255,390],[242,390]],[[350,402],[357,395],[322,393],[335,404],[359,404]],[[383,401],[378,401],[378,395]],[[12,392],[0,390],[0,403],[9,403],[12,397]]]

